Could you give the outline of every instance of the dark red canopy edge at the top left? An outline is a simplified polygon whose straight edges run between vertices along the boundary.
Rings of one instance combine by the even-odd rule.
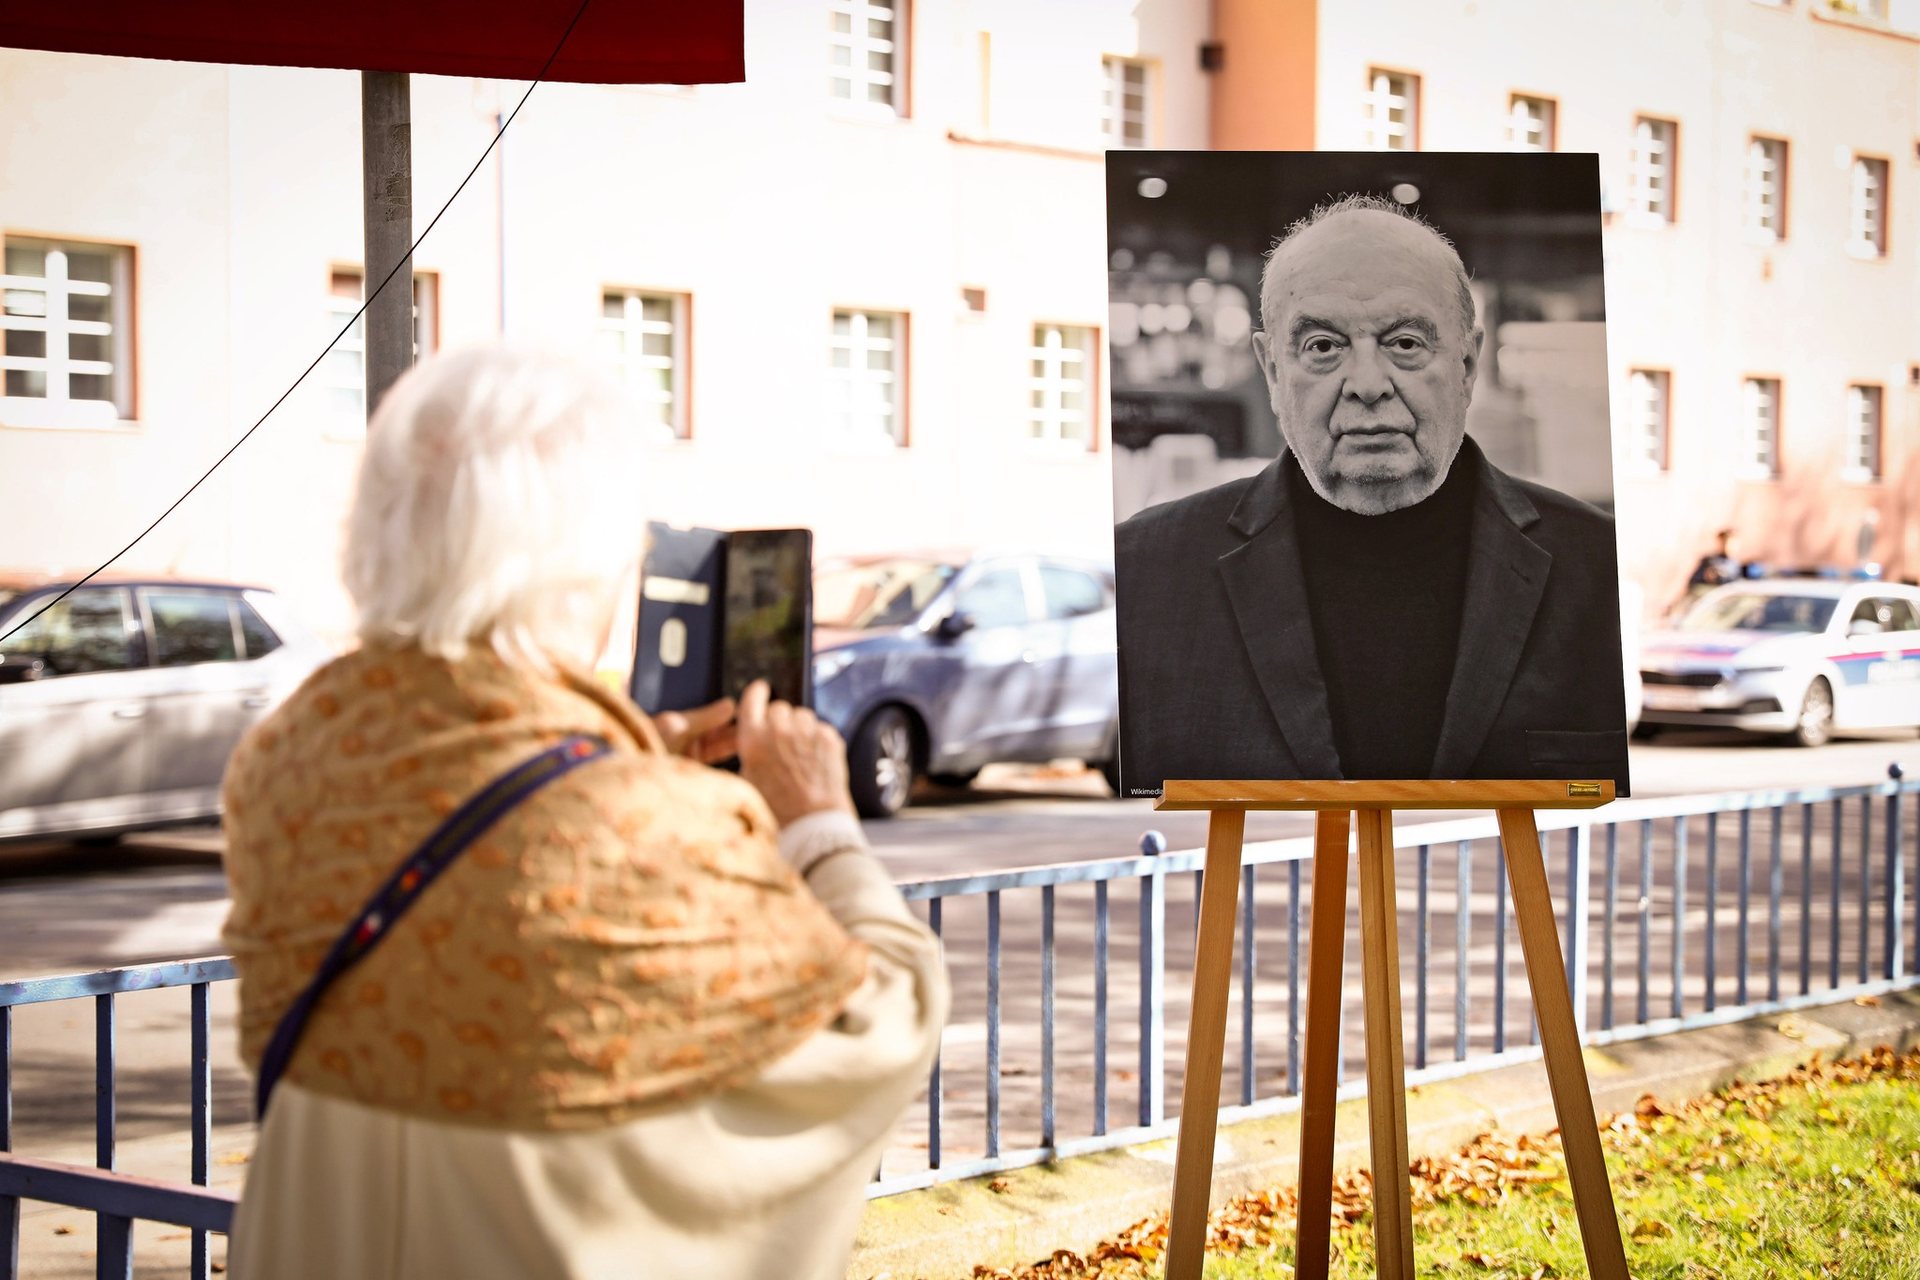
[[[591,0],[549,81],[745,79],[743,0]],[[0,0],[0,46],[530,81],[578,0]]]

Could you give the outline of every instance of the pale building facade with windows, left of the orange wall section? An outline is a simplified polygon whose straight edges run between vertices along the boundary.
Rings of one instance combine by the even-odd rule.
[[[1104,555],[1102,150],[1206,146],[1206,21],[751,0],[745,84],[534,92],[415,255],[417,342],[612,363],[655,518]],[[413,79],[417,234],[520,90]],[[359,81],[0,50],[0,564],[90,568],[357,307]],[[344,637],[357,340],[121,566],[265,581]]]

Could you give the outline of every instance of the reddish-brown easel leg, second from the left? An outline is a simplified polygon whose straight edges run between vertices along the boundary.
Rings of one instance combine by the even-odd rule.
[[[1313,819],[1313,915],[1308,940],[1308,1027],[1300,1052],[1300,1221],[1294,1268],[1327,1280],[1332,1245],[1332,1109],[1340,1061],[1340,967],[1346,956],[1346,829],[1352,814]]]

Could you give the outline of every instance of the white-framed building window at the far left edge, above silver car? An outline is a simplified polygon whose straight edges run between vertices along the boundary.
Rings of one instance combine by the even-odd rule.
[[[113,426],[132,416],[132,249],[8,236],[0,370],[10,422]]]

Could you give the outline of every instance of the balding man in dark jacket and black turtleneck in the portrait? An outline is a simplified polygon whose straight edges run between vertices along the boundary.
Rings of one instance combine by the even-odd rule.
[[[1252,344],[1284,449],[1116,530],[1129,794],[1169,777],[1624,789],[1613,518],[1467,436],[1482,342],[1459,253],[1400,203],[1340,196],[1279,240]]]

